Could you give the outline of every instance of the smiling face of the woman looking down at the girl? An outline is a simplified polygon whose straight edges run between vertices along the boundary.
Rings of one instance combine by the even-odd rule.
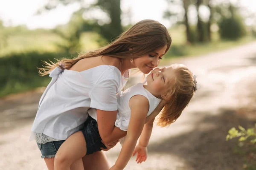
[[[163,55],[165,54],[167,45],[164,47],[158,48],[157,50],[151,51],[148,54],[135,58],[134,64],[137,68],[140,69],[141,72],[144,74],[148,74],[152,71],[155,67],[158,66],[160,60],[162,59]]]

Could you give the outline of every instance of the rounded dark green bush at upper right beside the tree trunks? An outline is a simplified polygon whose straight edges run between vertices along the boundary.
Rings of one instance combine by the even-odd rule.
[[[219,32],[221,39],[237,40],[246,34],[246,28],[241,17],[224,17],[219,23]]]

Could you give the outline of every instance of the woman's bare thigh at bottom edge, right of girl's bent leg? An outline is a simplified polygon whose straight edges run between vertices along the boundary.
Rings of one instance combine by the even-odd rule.
[[[97,151],[83,158],[84,170],[109,170],[107,157],[103,151]]]

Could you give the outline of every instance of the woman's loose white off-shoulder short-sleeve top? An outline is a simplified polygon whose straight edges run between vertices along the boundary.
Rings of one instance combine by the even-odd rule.
[[[31,139],[44,134],[65,140],[87,119],[89,108],[117,110],[116,94],[122,87],[121,72],[112,65],[99,65],[81,72],[55,68],[41,96]]]

